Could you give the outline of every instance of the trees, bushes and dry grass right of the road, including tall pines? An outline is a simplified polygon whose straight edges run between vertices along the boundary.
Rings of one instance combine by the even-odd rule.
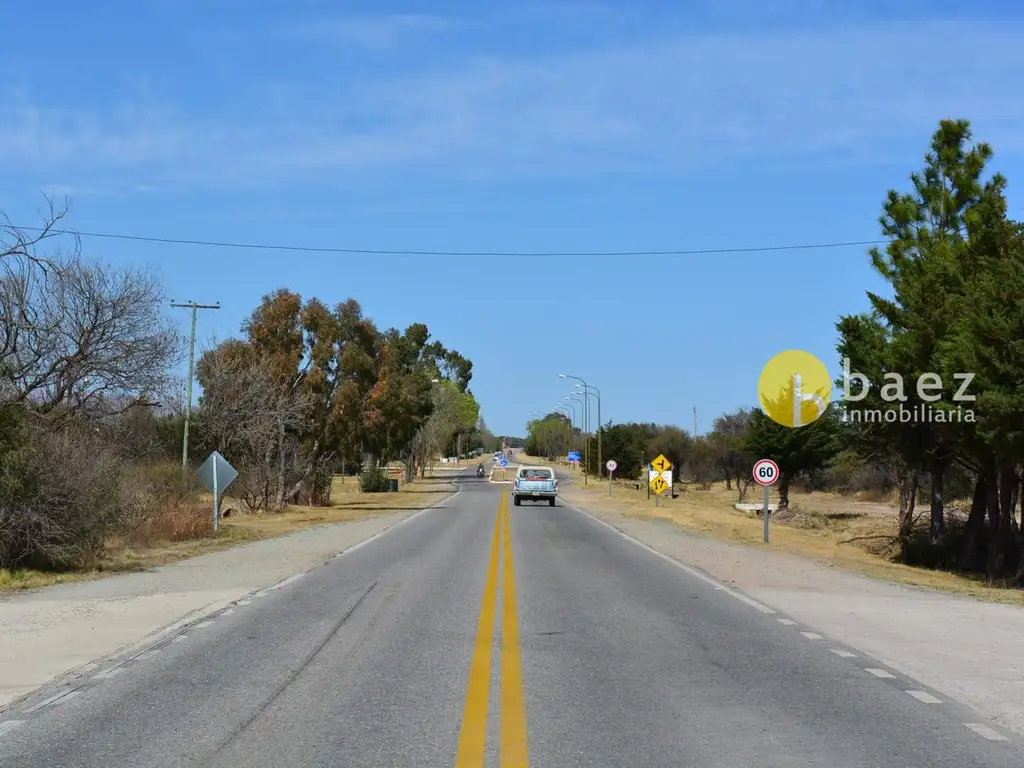
[[[731,494],[731,504],[716,508],[723,520],[738,520],[744,513],[735,503],[760,501],[751,493],[754,462],[771,458],[781,474],[780,526],[831,537],[836,547],[878,561],[1024,586],[1024,225],[1008,213],[1006,179],[986,171],[991,157],[991,147],[973,142],[967,121],[942,121],[909,190],[884,199],[888,244],[869,258],[889,290],[868,292],[871,311],[837,321],[839,356],[871,383],[856,407],[882,417],[844,419],[834,400],[799,429],[759,408],[722,415],[697,437],[673,425],[609,423],[601,426],[602,455],[617,461],[615,476],[640,479],[646,462],[665,454],[683,481],[681,497]],[[926,372],[941,377],[941,401],[921,396]],[[954,375],[964,372],[974,374],[976,399],[950,402]],[[893,381],[884,375],[893,373],[907,382],[903,402],[880,396]],[[884,416],[923,406],[968,406],[974,419]],[[562,414],[531,422],[525,451],[555,459],[588,439],[587,469],[596,475],[596,435],[581,435]],[[648,503],[645,488],[635,493]],[[726,527],[733,523],[746,524]]]

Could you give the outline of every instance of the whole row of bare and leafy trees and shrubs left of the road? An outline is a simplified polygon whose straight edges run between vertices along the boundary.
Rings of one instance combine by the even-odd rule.
[[[202,351],[182,471],[187,340],[147,269],[88,258],[67,203],[0,222],[0,568],[92,567],[116,547],[211,535],[197,464],[220,451],[250,510],[326,504],[335,472],[385,488],[497,438],[472,362],[427,327],[279,290]]]

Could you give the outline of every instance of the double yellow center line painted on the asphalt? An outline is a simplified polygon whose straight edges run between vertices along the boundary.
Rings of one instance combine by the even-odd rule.
[[[504,547],[503,547],[504,540]],[[504,554],[504,557],[502,557]],[[526,708],[522,695],[522,664],[519,656],[519,617],[515,600],[515,564],[512,559],[512,532],[509,525],[508,494],[498,502],[498,517],[490,544],[487,579],[483,586],[483,604],[476,629],[473,660],[469,666],[469,686],[459,732],[456,768],[483,768],[487,740],[487,702],[490,693],[490,649],[495,638],[498,608],[499,560],[504,561],[502,589],[502,679],[501,732],[499,756],[501,768],[528,768],[526,753]]]

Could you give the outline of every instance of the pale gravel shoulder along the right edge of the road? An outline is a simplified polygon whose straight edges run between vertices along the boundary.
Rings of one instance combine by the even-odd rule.
[[[846,572],[797,555],[694,536],[666,520],[563,503],[1024,734],[1024,609]],[[799,637],[799,635],[797,636]]]

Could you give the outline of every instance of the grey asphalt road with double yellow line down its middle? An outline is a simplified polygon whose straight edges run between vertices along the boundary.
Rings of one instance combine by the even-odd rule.
[[[9,713],[0,766],[1024,762],[959,705],[579,511],[513,507],[506,488],[467,473],[442,506]]]

